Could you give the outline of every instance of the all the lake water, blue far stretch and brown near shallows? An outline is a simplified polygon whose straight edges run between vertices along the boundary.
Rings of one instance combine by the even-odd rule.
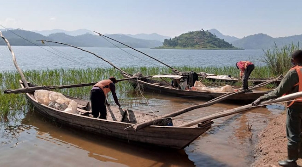
[[[45,49],[68,54],[71,62],[39,47],[13,46],[18,63],[23,70],[54,68],[109,67],[90,54],[66,47]],[[155,66],[125,54],[116,48],[85,48],[112,61],[117,66]],[[134,54],[129,49],[125,49]],[[261,50],[159,50],[140,49],[171,66],[233,66],[238,60],[261,58]],[[57,53],[57,52],[56,52]],[[145,56],[144,60],[159,65]],[[61,55],[62,56],[62,55]],[[79,64],[80,63],[80,64]],[[160,65],[162,66],[162,65]],[[15,70],[11,54],[0,46],[0,71]],[[149,94],[148,103],[158,115],[189,107],[204,101]],[[134,95],[135,96],[135,95]],[[127,98],[127,93],[125,93]],[[130,98],[129,98],[130,99]],[[132,108],[150,112],[145,100],[131,97]],[[127,101],[127,100],[126,100]],[[128,103],[129,101],[127,101]],[[113,104],[113,103],[112,103]],[[122,104],[122,106],[125,104]],[[233,104],[215,104],[178,116],[187,121],[239,107]],[[171,151],[131,145],[127,142],[100,138],[70,128],[62,128],[41,118],[34,111],[20,114],[10,125],[0,126],[0,166],[250,166],[252,149],[257,143],[257,134],[267,122],[284,108],[269,106],[215,119],[210,131],[197,138],[184,150]],[[247,124],[252,130],[247,131]],[[252,141],[249,141],[250,136]]]

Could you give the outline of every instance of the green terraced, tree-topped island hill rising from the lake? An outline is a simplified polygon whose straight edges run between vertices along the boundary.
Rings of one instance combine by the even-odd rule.
[[[238,49],[209,31],[192,31],[165,39],[159,49]]]

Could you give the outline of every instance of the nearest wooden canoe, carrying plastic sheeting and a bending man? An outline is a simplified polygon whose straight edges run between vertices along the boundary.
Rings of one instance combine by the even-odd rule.
[[[21,87],[24,84],[20,81]],[[35,86],[28,83],[29,87]],[[178,127],[184,124],[182,120],[167,119],[172,121],[173,126],[163,126],[163,122],[158,125],[149,126],[141,131],[134,131],[129,128],[124,130],[137,122],[143,122],[152,118],[155,115],[142,113],[132,110],[123,110],[117,107],[107,108],[107,120],[93,118],[89,116],[91,112],[90,101],[82,100],[70,96],[66,96],[78,104],[78,111],[80,114],[67,113],[64,111],[56,110],[52,107],[39,103],[34,98],[34,92],[26,93],[30,103],[34,107],[34,111],[41,114],[54,122],[69,126],[71,128],[80,129],[86,132],[99,135],[100,140],[102,137],[107,136],[111,138],[121,139],[130,143],[143,143],[161,147],[170,147],[174,149],[183,149],[188,146],[192,141],[198,138],[201,134],[211,128],[212,121],[203,122],[192,127]]]

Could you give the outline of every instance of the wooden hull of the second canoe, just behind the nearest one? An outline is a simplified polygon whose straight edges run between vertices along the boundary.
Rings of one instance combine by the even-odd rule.
[[[127,74],[121,73],[125,78],[130,78]],[[178,88],[173,88],[169,83],[164,81],[158,81],[154,79],[130,79],[129,82],[132,82],[134,85],[140,84],[143,87],[144,91],[156,92],[160,94],[167,94],[176,97],[192,97],[198,99],[213,99],[219,97],[226,93],[221,92],[207,92],[207,91],[191,91],[191,90],[182,90]],[[253,91],[252,93],[242,93],[236,94],[228,97],[226,100],[233,103],[249,103],[255,101],[260,96],[268,93],[269,91]]]

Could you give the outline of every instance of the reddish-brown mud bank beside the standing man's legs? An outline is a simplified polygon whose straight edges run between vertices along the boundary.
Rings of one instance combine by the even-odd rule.
[[[278,161],[287,159],[287,138],[285,127],[286,114],[283,113],[271,120],[258,135],[254,149],[253,167],[279,166]],[[297,161],[302,165],[302,159]]]

